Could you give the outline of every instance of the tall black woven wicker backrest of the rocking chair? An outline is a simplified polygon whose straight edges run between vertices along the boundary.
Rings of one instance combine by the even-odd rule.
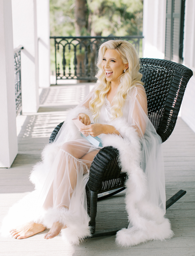
[[[164,142],[175,127],[184,91],[193,72],[171,61],[149,58],[140,61],[148,117]]]

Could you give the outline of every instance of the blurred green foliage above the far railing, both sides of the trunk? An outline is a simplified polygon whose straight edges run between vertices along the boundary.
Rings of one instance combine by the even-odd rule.
[[[75,36],[75,0],[50,0],[52,36]],[[81,35],[142,34],[143,0],[87,0],[87,26]]]

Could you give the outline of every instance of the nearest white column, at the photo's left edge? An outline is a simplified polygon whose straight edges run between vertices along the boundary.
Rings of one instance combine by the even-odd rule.
[[[0,167],[9,168],[17,155],[12,1],[0,1]]]

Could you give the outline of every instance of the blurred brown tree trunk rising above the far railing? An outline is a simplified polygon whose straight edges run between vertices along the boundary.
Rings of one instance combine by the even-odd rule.
[[[87,0],[75,0],[74,16],[76,36],[81,36],[87,28]]]

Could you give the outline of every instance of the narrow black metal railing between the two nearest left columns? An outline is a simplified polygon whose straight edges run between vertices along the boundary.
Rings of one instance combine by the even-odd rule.
[[[21,93],[21,63],[20,51],[24,47],[14,49],[14,75],[15,75],[15,95],[16,95],[16,115],[22,111],[22,93]]]

